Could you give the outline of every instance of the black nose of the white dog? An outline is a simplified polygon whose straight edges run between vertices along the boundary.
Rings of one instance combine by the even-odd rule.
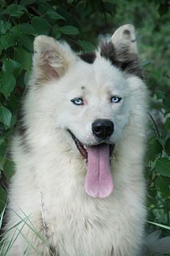
[[[92,124],[92,130],[97,137],[105,139],[113,133],[114,124],[109,119],[97,119]]]

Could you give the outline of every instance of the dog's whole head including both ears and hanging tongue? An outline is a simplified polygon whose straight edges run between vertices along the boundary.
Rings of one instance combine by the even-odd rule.
[[[34,50],[34,83],[42,98],[47,95],[43,111],[53,116],[53,127],[69,138],[75,154],[86,159],[86,192],[108,197],[113,190],[109,160],[134,107],[128,80],[140,76],[133,26],[119,28],[95,53],[76,55],[66,43],[46,36],[35,39]]]

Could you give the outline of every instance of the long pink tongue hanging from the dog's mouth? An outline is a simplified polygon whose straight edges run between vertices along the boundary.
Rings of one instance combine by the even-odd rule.
[[[109,144],[89,147],[85,191],[91,197],[105,198],[113,192]]]

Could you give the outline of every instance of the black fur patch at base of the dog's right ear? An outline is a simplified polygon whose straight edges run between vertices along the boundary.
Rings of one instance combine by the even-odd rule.
[[[128,46],[125,44],[120,44],[119,50],[116,51],[112,42],[101,42],[101,57],[109,59],[121,71],[143,79],[137,55],[129,53]]]

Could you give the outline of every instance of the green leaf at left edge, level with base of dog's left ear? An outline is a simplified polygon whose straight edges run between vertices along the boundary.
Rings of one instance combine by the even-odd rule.
[[[10,93],[14,90],[16,85],[16,80],[12,73],[3,71],[0,73],[0,91],[6,97],[6,99],[10,96]]]

